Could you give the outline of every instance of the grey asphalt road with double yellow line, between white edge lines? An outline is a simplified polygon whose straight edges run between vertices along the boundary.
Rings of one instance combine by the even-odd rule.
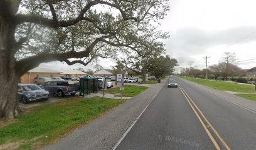
[[[256,149],[256,114],[194,84],[159,91],[117,149]]]

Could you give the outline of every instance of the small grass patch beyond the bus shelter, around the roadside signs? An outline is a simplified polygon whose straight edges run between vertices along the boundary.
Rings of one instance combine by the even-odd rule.
[[[133,97],[133,96],[136,96],[137,94],[142,93],[142,91],[145,91],[146,89],[147,89],[147,87],[144,87],[144,86],[125,85],[124,91],[120,91],[120,87],[117,87],[117,88],[107,89],[107,91],[105,91],[105,92],[106,93],[122,93],[122,96],[124,96],[124,97]],[[120,95],[118,95],[118,96],[120,96]]]

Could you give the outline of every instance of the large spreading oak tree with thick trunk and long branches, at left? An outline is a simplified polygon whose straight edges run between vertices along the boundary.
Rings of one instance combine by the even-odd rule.
[[[14,118],[17,84],[30,69],[136,51],[168,10],[168,0],[0,0],[0,118]]]

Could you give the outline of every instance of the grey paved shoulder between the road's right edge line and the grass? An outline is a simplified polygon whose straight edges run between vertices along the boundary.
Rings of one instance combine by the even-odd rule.
[[[182,79],[182,78],[179,78],[179,79],[183,80],[184,82],[186,82],[188,84],[193,84],[197,88],[200,88],[202,90],[208,91],[209,93],[215,94],[216,96],[218,96],[222,99],[230,101],[231,103],[236,104],[236,105],[240,106],[241,108],[249,109],[250,111],[253,111],[256,114],[256,103],[254,101],[251,101],[251,100],[245,99],[245,98],[241,98],[239,96],[235,96],[234,94],[231,94],[227,91],[220,91],[218,89],[213,89],[208,86],[203,86],[198,83],[193,83],[191,81],[188,81],[188,80]]]

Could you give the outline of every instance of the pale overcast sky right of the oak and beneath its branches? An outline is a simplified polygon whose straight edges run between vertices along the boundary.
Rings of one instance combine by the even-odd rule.
[[[170,4],[171,10],[159,29],[169,32],[170,38],[163,42],[166,54],[178,60],[176,72],[188,61],[204,69],[206,56],[210,56],[208,65],[218,64],[225,52],[235,53],[242,69],[256,66],[255,0],[172,0]],[[100,59],[99,64],[105,69],[115,65],[111,59]],[[93,65],[53,62],[40,67],[86,70]]]

